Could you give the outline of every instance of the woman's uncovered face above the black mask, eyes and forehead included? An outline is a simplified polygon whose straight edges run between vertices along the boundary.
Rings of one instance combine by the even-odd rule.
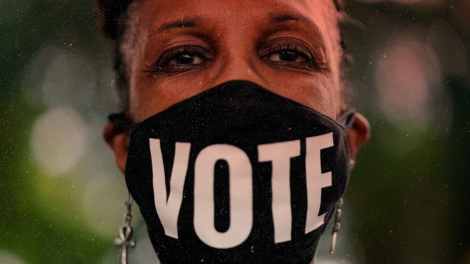
[[[333,0],[138,0],[129,114],[142,121],[230,80],[335,118],[342,51]]]

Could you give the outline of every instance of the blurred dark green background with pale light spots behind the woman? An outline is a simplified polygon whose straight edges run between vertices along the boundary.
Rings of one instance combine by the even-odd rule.
[[[372,136],[317,263],[470,263],[469,8],[346,2],[351,104]],[[117,263],[127,192],[101,136],[116,74],[97,5],[1,0],[0,38],[0,263]],[[130,264],[157,263],[133,213]]]

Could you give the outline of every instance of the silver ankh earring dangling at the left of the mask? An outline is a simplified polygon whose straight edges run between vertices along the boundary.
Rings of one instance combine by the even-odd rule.
[[[114,239],[114,246],[118,249],[121,248],[119,264],[127,264],[127,248],[135,248],[135,241],[129,241],[133,234],[133,229],[131,226],[131,207],[133,205],[133,201],[134,199],[131,201],[131,194],[129,194],[129,200],[124,203],[127,208],[127,213],[124,214],[124,225],[119,229],[121,238]]]

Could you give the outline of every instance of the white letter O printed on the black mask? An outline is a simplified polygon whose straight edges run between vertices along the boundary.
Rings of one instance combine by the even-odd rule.
[[[214,166],[228,163],[230,226],[220,233],[214,225]],[[245,241],[253,225],[253,184],[250,158],[235,146],[215,144],[201,150],[194,165],[194,229],[212,248],[233,248]]]

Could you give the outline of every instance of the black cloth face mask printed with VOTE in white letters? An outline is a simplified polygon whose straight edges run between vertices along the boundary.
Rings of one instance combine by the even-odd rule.
[[[350,175],[335,122],[249,81],[230,81],[132,127],[125,167],[163,264],[299,263]]]

